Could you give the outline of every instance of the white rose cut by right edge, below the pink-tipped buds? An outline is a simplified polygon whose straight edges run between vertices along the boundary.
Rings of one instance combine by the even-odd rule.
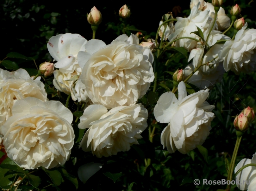
[[[256,29],[246,29],[247,23],[239,30],[234,40],[226,41],[219,57],[224,60],[226,71],[235,74],[251,73],[256,66]]]

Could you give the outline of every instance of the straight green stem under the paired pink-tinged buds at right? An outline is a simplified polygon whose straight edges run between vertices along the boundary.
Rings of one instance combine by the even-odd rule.
[[[238,152],[238,149],[239,149],[239,145],[241,143],[243,133],[240,132],[240,131],[236,131],[236,134],[237,134],[236,145],[235,145],[233,155],[232,155],[232,158],[231,158],[231,162],[230,162],[230,165],[229,165],[229,172],[227,173],[227,180],[230,180],[230,181],[232,180],[233,169],[234,169],[235,162],[236,162],[236,156],[237,156],[237,152]],[[227,185],[226,190],[230,190],[230,185]]]

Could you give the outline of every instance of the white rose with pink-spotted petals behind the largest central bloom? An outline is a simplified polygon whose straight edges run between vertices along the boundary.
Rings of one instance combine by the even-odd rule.
[[[87,40],[81,35],[66,33],[51,37],[47,44],[49,53],[57,61],[54,66],[58,70],[54,71],[53,84],[65,94],[69,94],[73,86],[73,80],[69,80],[82,72],[77,54],[86,50],[86,43]]]

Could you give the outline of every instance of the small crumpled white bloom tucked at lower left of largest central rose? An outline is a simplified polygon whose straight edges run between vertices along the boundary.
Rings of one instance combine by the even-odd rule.
[[[82,83],[82,80],[77,80],[71,87],[71,97],[72,100],[78,102],[88,102],[89,96],[85,90],[85,84]]]

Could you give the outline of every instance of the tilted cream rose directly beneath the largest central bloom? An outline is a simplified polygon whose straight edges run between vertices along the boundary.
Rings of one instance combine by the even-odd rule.
[[[148,111],[141,104],[119,106],[107,111],[103,105],[89,105],[78,127],[88,129],[79,147],[97,157],[128,151],[147,127]]]

